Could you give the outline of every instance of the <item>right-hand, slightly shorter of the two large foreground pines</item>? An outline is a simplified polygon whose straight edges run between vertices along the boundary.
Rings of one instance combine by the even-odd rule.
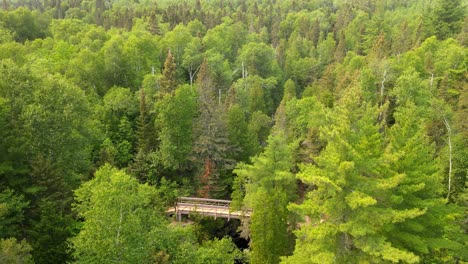
[[[386,153],[395,160],[391,171],[402,175],[392,190],[389,205],[395,211],[419,210],[415,218],[399,221],[385,230],[387,240],[430,262],[440,250],[457,250],[461,245],[447,238],[445,231],[453,228],[453,215],[458,208],[446,205],[442,196],[443,175],[434,161],[435,148],[429,143],[424,119],[412,102],[397,107],[396,124],[389,129],[390,144]],[[460,211],[458,213],[461,213]]]

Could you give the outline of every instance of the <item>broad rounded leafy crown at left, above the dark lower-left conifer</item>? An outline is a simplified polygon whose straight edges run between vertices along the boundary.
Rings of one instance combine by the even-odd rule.
[[[90,115],[78,87],[57,77],[45,78],[22,114],[29,151],[49,156],[65,170],[86,170],[94,137]]]

